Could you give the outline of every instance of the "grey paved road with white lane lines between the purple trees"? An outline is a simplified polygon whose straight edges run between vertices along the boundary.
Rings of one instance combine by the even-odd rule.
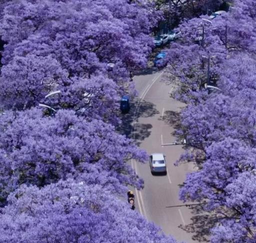
[[[161,75],[161,72],[153,72],[135,76],[133,79],[141,102],[139,108],[136,106],[138,119],[133,121],[135,130],[132,136],[148,154],[164,153],[167,161],[166,176],[152,176],[148,163],[138,164],[132,161],[132,167],[145,183],[142,191],[136,191],[136,209],[177,241],[205,242],[200,236],[200,229],[195,229],[198,226],[196,219],[200,219],[192,214],[190,208],[166,208],[183,205],[178,200],[179,185],[184,181],[185,174],[193,170],[193,165],[173,165],[183,152],[182,146],[161,146],[176,140],[172,132],[177,124],[178,111],[184,106],[169,97],[169,92],[174,87],[165,84]]]

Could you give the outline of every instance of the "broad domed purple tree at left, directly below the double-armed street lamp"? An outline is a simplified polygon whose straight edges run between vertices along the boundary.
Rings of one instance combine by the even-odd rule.
[[[54,118],[32,109],[6,112],[0,119],[2,199],[22,183],[41,187],[76,178],[88,173],[89,165],[96,165],[96,170],[119,184],[142,186],[126,162],[142,162],[145,153],[132,140],[115,133],[111,125],[93,119],[88,122],[67,110],[59,110]]]

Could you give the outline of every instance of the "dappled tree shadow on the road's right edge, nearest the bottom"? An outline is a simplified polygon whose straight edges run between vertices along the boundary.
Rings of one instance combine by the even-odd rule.
[[[208,214],[203,210],[203,205],[188,206],[191,213],[191,224],[179,225],[178,228],[192,234],[192,240],[197,242],[210,242],[210,230],[219,222],[219,216],[214,213]]]

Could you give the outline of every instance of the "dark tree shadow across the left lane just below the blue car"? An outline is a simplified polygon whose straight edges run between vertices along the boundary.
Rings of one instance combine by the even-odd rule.
[[[121,124],[116,130],[128,138],[136,140],[136,144],[139,145],[141,141],[149,137],[152,125],[137,123],[138,118],[153,117],[156,114],[159,112],[153,103],[135,100],[131,103],[130,111],[127,114],[121,114]]]

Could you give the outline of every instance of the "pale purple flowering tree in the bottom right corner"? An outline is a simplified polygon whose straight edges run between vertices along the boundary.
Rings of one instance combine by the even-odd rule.
[[[212,243],[233,242],[253,243],[256,240],[256,208],[255,208],[255,181],[254,173],[243,172],[226,186],[226,210],[221,225],[212,229]]]

